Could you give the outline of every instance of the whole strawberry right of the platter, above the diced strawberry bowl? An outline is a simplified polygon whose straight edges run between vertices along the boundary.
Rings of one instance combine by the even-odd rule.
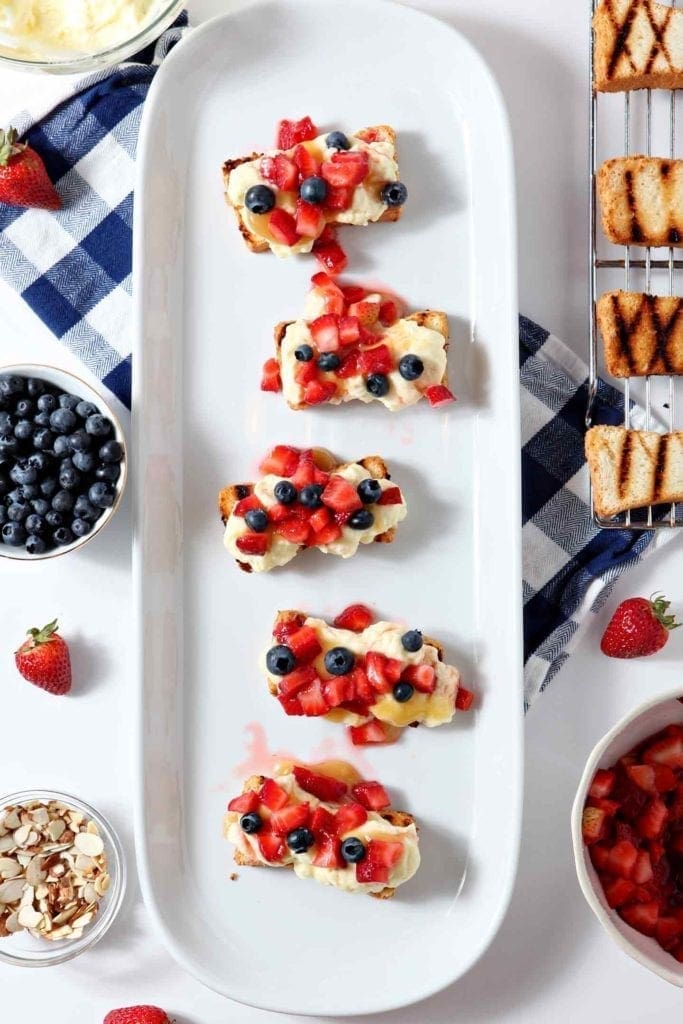
[[[661,650],[672,630],[681,625],[667,610],[671,601],[661,594],[630,597],[622,601],[600,641],[600,650],[609,657],[644,657]]]

